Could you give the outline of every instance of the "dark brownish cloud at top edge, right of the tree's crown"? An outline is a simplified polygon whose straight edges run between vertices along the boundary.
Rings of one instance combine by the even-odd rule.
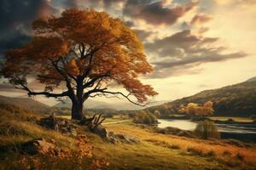
[[[183,6],[167,8],[163,1],[128,0],[125,3],[124,14],[132,18],[145,20],[152,25],[172,25],[178,18],[194,8],[196,4],[191,2]]]

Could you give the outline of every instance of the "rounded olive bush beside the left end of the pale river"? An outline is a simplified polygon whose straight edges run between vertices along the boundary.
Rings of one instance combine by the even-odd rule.
[[[147,111],[140,111],[133,117],[133,122],[141,124],[155,124],[157,123],[157,118]]]

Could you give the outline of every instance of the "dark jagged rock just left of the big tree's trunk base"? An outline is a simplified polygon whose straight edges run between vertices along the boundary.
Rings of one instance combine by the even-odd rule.
[[[38,124],[42,127],[57,130],[63,134],[73,136],[77,135],[77,127],[73,124],[73,122],[66,119],[57,118],[55,116],[48,116],[41,118],[40,121],[38,121]]]

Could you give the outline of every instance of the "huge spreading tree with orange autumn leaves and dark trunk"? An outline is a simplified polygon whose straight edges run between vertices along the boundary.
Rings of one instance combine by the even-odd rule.
[[[32,29],[32,42],[5,55],[3,77],[29,96],[70,98],[73,119],[83,117],[83,103],[90,97],[119,95],[145,105],[157,94],[138,80],[153,68],[142,42],[121,20],[93,9],[69,9],[60,17],[35,20]],[[33,90],[28,78],[38,80],[44,89]],[[109,90],[112,82],[127,94]],[[59,93],[60,88],[65,90]]]

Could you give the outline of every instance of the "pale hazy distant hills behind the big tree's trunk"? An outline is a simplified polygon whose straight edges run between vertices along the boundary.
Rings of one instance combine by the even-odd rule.
[[[153,105],[161,105],[165,103],[166,101],[155,101],[148,106]],[[72,104],[70,99],[65,99],[64,102],[60,102],[53,107],[65,107],[65,108],[71,108]],[[145,108],[145,107],[144,107]],[[92,110],[100,110],[100,109],[114,109],[116,111],[125,111],[125,110],[142,110],[144,109],[141,106],[133,105],[131,103],[117,103],[117,104],[111,104],[108,102],[102,102],[102,101],[96,101],[92,99],[87,99],[84,102],[84,109],[92,109]]]

